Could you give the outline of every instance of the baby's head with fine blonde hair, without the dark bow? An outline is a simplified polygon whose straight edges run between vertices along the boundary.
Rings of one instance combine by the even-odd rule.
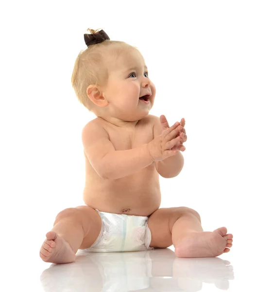
[[[143,56],[122,41],[106,39],[81,51],[71,82],[85,108],[108,121],[136,122],[148,115],[154,104],[155,87]],[[139,99],[148,93],[152,94],[148,103]]]

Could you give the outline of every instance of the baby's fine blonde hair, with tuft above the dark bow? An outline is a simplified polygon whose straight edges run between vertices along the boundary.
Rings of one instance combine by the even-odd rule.
[[[100,29],[88,28],[91,34],[95,34]],[[123,41],[106,39],[99,44],[90,45],[87,49],[80,51],[75,60],[75,65],[71,77],[71,84],[79,102],[89,111],[92,111],[93,102],[86,94],[89,85],[105,86],[108,81],[108,68],[105,62],[106,53],[117,57],[123,52],[124,46],[132,47]]]

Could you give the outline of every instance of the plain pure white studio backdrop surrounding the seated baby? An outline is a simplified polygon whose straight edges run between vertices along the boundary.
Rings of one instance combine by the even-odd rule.
[[[237,263],[239,287],[236,273],[250,273],[241,263],[254,256],[256,239],[255,1],[9,1],[0,11],[1,249],[8,263],[30,267],[22,270],[38,281],[49,266],[39,248],[55,216],[84,203],[81,131],[96,116],[77,101],[71,74],[87,28],[102,28],[144,56],[156,86],[150,114],[164,114],[169,125],[186,120],[184,168],[160,178],[161,207],[188,206],[205,231],[233,233],[223,258]],[[28,285],[25,279],[11,282]]]

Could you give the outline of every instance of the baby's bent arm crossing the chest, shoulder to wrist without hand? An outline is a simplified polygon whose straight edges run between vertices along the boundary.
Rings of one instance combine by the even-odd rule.
[[[90,164],[103,179],[120,179],[153,163],[148,144],[115,150],[105,129],[93,121],[83,128],[82,141]]]

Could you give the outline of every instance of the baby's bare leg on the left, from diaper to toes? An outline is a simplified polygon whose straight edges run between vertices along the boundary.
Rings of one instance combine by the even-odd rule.
[[[93,208],[65,209],[57,215],[53,228],[46,234],[40,257],[56,264],[73,262],[78,249],[89,248],[94,243],[101,227],[101,217]]]

